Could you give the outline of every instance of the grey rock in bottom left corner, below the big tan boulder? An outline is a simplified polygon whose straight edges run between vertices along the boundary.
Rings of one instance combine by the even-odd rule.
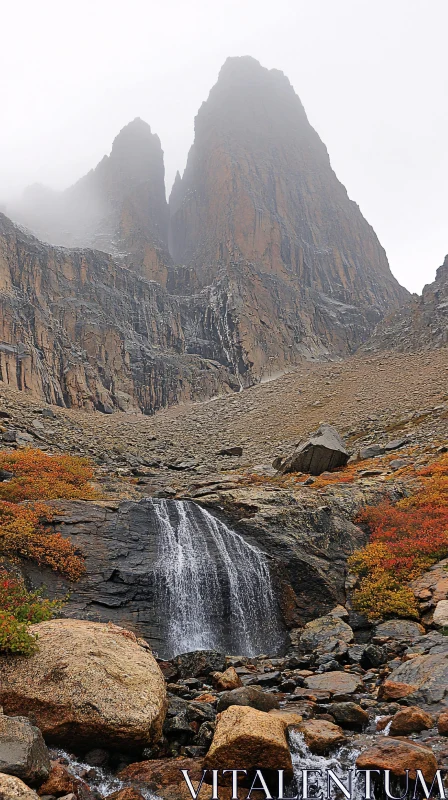
[[[0,714],[0,772],[39,786],[50,773],[50,757],[39,728],[26,717]]]

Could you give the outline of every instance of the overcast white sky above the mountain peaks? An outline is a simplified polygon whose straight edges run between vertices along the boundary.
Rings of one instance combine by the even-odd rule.
[[[63,188],[136,116],[183,170],[229,55],[282,69],[412,291],[448,252],[448,0],[0,0],[0,201]]]

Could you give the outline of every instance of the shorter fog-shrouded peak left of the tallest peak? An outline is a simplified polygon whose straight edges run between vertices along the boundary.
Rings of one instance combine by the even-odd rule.
[[[64,192],[30,187],[13,213],[43,241],[103,250],[140,275],[166,283],[163,152],[159,137],[141,119],[126,125],[110,155],[74,186]]]

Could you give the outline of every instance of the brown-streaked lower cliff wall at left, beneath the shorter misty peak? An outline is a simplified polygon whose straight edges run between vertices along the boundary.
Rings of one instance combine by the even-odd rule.
[[[218,326],[205,302],[190,312],[105,253],[44,245],[0,214],[0,380],[14,388],[146,413],[238,390],[239,345],[224,355]]]

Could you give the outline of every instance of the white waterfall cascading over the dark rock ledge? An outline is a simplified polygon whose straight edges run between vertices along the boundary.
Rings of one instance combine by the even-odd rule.
[[[193,502],[147,502],[157,527],[155,597],[169,657],[277,653],[283,635],[266,556]]]

